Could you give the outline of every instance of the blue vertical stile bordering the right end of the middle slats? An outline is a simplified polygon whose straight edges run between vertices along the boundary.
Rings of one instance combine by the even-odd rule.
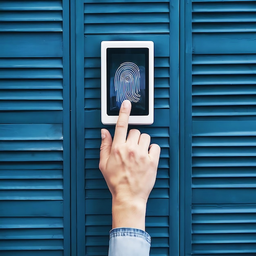
[[[179,255],[179,5],[170,0],[169,255]]]

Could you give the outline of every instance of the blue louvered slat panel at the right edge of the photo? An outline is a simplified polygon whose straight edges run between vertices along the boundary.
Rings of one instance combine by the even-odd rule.
[[[256,1],[192,17],[192,254],[256,255]]]

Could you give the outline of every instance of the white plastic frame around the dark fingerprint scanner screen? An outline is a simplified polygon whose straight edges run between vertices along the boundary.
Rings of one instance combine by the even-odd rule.
[[[116,124],[117,116],[107,114],[107,48],[148,48],[148,115],[130,116],[129,124],[154,122],[154,43],[152,41],[102,41],[101,42],[101,122]]]

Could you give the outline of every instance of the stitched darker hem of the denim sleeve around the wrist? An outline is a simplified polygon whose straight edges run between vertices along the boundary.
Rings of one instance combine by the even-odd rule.
[[[151,243],[150,235],[141,229],[134,229],[130,227],[118,227],[110,230],[110,239],[117,236],[134,236],[144,239],[149,245]]]

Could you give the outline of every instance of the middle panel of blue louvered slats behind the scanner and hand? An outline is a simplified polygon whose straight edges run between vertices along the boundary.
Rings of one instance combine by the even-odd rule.
[[[99,171],[100,45],[103,40],[152,40],[155,44],[155,123],[135,126],[161,146],[155,187],[148,200],[150,255],[169,255],[169,2],[85,1],[85,255],[107,255],[111,194]],[[106,126],[105,126],[106,127]],[[114,127],[108,127],[112,135]]]

